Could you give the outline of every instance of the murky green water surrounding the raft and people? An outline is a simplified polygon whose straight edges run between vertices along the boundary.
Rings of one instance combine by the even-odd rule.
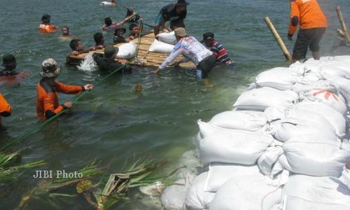
[[[120,1],[135,10],[148,23],[153,23],[162,6],[173,1]],[[328,17],[329,28],[321,50],[330,55],[336,43],[335,29],[339,28],[335,6],[340,4],[345,20],[350,23],[348,0],[320,0]],[[111,164],[110,172],[118,172],[126,160],[149,155],[155,160],[169,160],[167,168],[176,165],[183,152],[195,148],[197,119],[209,120],[216,113],[231,109],[239,94],[262,70],[285,66],[281,50],[265,26],[263,18],[269,15],[281,36],[286,40],[288,29],[288,1],[190,1],[186,25],[190,35],[202,38],[213,31],[216,38],[230,51],[237,63],[235,69],[216,68],[210,78],[214,87],[205,89],[191,71],[169,69],[154,76],[151,68],[137,68],[132,75],[115,75],[98,85],[74,104],[72,111],[43,127],[10,151],[30,147],[22,155],[22,162],[45,160],[46,169],[74,171],[92,160],[101,165]],[[70,52],[69,42],[58,34],[38,34],[38,23],[43,13],[49,13],[52,24],[70,27],[71,34],[79,36],[84,45],[93,44],[92,35],[100,31],[106,16],[113,21],[125,16],[122,7],[99,6],[99,1],[9,1],[0,0],[1,34],[0,57],[13,52],[18,60],[18,71],[29,71],[31,76],[16,87],[0,87],[1,93],[13,107],[10,118],[3,118],[6,134],[0,144],[23,134],[40,123],[36,118],[36,83],[43,59],[55,58],[62,65],[60,81],[67,84],[96,83],[101,79],[97,71],[86,73],[64,66]],[[112,34],[105,34],[107,42]],[[295,37],[296,38],[296,37]],[[286,41],[292,50],[293,43]],[[349,49],[340,49],[337,55],[349,55]],[[134,92],[140,81],[142,94]],[[72,96],[59,95],[60,102]],[[13,209],[20,197],[37,180],[34,170],[22,174],[20,181],[1,188],[0,209]],[[3,195],[3,193],[5,195]],[[82,197],[55,200],[59,209],[88,209]],[[48,204],[34,200],[27,209],[52,209]],[[123,209],[145,209],[130,202]]]

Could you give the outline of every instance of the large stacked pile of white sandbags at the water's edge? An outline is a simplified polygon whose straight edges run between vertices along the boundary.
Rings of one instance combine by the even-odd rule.
[[[208,171],[183,209],[350,209],[350,56],[260,73],[233,111],[198,120]]]

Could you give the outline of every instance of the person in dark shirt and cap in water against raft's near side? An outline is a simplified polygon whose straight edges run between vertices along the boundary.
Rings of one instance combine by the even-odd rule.
[[[123,62],[123,64],[119,64],[118,62],[116,62],[118,50],[119,49],[114,48],[113,45],[107,45],[106,48],[104,48],[104,55],[94,53],[94,61],[97,63],[97,66],[99,66],[100,71],[115,71],[116,69],[120,68],[121,66],[123,66],[123,64],[126,63],[126,61]],[[132,66],[127,64],[119,72],[132,73]]]

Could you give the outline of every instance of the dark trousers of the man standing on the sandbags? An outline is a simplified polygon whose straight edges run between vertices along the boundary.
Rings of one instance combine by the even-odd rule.
[[[300,29],[293,49],[293,59],[305,59],[307,48],[312,52],[318,52],[320,50],[318,43],[324,33],[325,28]]]

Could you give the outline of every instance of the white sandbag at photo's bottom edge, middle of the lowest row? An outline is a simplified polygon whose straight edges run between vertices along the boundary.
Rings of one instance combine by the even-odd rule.
[[[271,209],[281,201],[281,194],[281,186],[272,185],[267,177],[235,176],[218,190],[209,209]]]

